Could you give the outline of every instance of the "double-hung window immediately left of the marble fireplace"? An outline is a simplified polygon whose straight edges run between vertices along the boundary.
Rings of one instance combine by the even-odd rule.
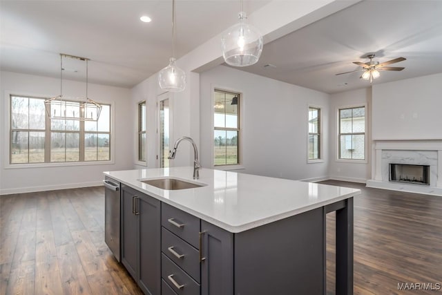
[[[365,160],[365,106],[339,110],[339,159]]]

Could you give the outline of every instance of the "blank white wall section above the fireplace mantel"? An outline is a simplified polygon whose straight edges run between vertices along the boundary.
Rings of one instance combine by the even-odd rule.
[[[373,86],[373,140],[441,140],[442,73]]]

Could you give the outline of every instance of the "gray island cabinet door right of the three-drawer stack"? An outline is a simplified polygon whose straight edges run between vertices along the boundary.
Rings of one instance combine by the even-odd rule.
[[[204,220],[201,232],[201,295],[233,294],[233,234]]]

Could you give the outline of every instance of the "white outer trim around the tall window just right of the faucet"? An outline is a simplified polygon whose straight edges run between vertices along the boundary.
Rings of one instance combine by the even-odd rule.
[[[238,156],[240,158],[240,162],[238,164],[234,165],[219,165],[215,166],[215,160],[214,160],[214,153],[213,150],[215,149],[215,146],[213,144],[213,136],[215,135],[215,122],[213,122],[213,108],[215,108],[215,89],[218,89],[220,91],[228,91],[232,93],[239,93],[240,94],[240,128],[238,129],[239,132],[239,146],[238,146]],[[224,87],[220,85],[211,85],[211,168],[217,169],[217,170],[224,170],[224,171],[230,171],[230,170],[242,170],[245,169],[243,166],[244,162],[242,159],[242,146],[244,145],[243,142],[243,133],[244,133],[244,106],[245,106],[245,99],[244,99],[244,93],[242,91],[238,91],[237,89],[233,89],[230,87]]]

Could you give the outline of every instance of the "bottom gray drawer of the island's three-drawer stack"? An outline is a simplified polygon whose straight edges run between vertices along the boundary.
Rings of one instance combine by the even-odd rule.
[[[175,265],[166,255],[161,254],[161,276],[177,295],[199,295],[200,284]]]

